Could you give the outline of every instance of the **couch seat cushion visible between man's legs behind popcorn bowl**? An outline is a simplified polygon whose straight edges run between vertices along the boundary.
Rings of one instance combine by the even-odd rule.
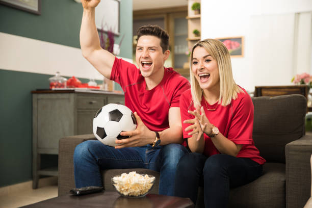
[[[151,194],[158,194],[159,189],[159,172],[143,169],[143,168],[133,168],[133,169],[111,169],[111,170],[105,170],[101,171],[102,175],[102,181],[103,181],[103,187],[105,190],[108,191],[115,191],[115,188],[113,187],[111,183],[111,178],[115,175],[120,175],[122,173],[129,173],[132,171],[136,171],[139,174],[149,174],[156,177],[155,184],[153,188],[150,190],[149,193]]]

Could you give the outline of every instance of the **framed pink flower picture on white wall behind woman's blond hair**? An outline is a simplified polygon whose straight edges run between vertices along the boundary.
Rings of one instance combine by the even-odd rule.
[[[216,38],[228,49],[231,57],[244,57],[244,37]]]

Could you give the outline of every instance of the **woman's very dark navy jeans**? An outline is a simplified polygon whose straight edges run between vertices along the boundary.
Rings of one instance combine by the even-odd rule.
[[[204,187],[205,207],[227,207],[230,188],[250,183],[262,175],[262,165],[227,154],[207,158],[200,153],[185,154],[177,165],[175,196],[189,197],[195,204],[198,187]]]

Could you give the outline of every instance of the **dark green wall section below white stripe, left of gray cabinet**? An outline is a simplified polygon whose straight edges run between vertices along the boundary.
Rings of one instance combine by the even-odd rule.
[[[6,186],[32,179],[31,91],[47,88],[50,75],[0,70],[0,77],[0,186]]]

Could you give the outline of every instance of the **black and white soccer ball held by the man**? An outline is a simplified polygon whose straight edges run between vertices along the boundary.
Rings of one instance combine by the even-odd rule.
[[[133,112],[126,106],[110,103],[100,108],[93,118],[93,134],[100,142],[109,146],[117,146],[116,139],[125,139],[121,132],[133,131],[137,120]]]

